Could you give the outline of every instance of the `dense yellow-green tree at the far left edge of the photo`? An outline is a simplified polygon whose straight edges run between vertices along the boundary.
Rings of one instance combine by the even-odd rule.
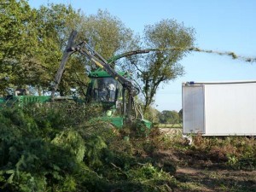
[[[37,49],[36,11],[24,0],[0,1],[0,79],[8,76],[9,82],[1,82],[0,91],[11,84],[25,84],[29,73],[33,49]],[[22,65],[21,65],[22,63]],[[17,74],[20,74],[19,76]]]

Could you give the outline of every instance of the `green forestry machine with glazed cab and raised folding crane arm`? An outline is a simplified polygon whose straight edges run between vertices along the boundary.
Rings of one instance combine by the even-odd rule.
[[[89,44],[82,42],[73,46],[73,41],[77,37],[77,33],[73,31],[68,39],[67,47],[62,55],[60,67],[55,75],[55,81],[52,84],[50,96],[26,96],[26,91],[17,92],[13,96],[0,98],[2,103],[18,103],[20,106],[32,102],[54,102],[56,100],[65,101],[70,97],[55,96],[61,77],[64,72],[67,60],[73,53],[79,53],[86,56],[92,61],[98,69],[89,74],[90,84],[87,87],[85,101],[87,103],[100,103],[103,108],[103,115],[99,119],[108,121],[117,128],[123,127],[125,124],[135,124],[137,127],[150,129],[151,122],[143,119],[143,113],[135,102],[135,96],[138,95],[139,89],[132,82],[128,73],[116,72],[101,55]],[[137,52],[128,55],[137,54]],[[124,55],[118,55],[110,61],[115,61]]]

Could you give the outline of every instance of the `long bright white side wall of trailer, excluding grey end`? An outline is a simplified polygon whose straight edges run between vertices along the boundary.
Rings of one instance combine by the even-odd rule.
[[[256,84],[205,84],[209,136],[256,135]]]

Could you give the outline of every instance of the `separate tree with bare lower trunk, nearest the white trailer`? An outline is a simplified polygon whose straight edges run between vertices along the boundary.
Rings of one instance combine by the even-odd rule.
[[[177,23],[176,20],[161,20],[148,25],[144,30],[145,44],[159,51],[147,55],[138,78],[143,82],[145,107],[154,102],[156,90],[161,83],[168,83],[183,75],[178,61],[188,52],[186,48],[194,43],[194,30]]]

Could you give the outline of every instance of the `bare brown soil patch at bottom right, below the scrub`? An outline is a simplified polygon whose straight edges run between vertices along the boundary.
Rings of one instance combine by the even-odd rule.
[[[155,154],[162,164],[175,165],[174,177],[177,188],[174,191],[254,191],[256,192],[256,171],[232,170],[221,163],[204,160],[204,154],[191,155],[174,149]],[[201,155],[201,157],[199,157]]]

